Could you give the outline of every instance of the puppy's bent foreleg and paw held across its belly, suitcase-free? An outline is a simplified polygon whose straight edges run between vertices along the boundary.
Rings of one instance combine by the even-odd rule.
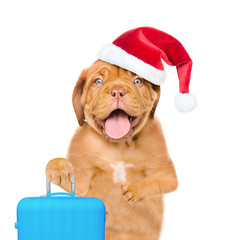
[[[153,194],[164,194],[174,191],[178,186],[173,163],[162,164],[151,174],[136,183],[121,186],[124,199],[131,205],[138,200]]]

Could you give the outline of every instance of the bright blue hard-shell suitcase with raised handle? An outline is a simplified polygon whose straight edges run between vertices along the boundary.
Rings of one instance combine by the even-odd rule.
[[[18,240],[104,240],[106,211],[98,198],[51,193],[23,198],[17,206]]]

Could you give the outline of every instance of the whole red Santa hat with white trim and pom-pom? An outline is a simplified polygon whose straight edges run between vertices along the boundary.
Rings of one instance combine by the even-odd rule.
[[[170,66],[176,66],[179,78],[179,93],[175,106],[180,112],[192,111],[196,97],[189,93],[192,60],[183,45],[169,34],[151,27],[129,30],[113,43],[106,44],[98,58],[127,69],[155,85],[161,85],[166,72],[162,59]]]

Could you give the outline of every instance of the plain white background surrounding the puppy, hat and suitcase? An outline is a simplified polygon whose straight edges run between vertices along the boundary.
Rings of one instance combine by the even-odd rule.
[[[81,70],[124,31],[152,26],[188,51],[198,99],[177,112],[177,73],[166,66],[157,115],[179,188],[165,196],[161,239],[234,240],[234,22],[232,0],[1,1],[0,239],[17,238],[17,203],[44,194],[47,162],[66,156]]]

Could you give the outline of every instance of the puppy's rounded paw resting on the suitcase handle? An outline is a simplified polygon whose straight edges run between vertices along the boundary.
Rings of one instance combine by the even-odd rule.
[[[74,168],[65,158],[54,158],[46,166],[46,177],[56,185],[64,185],[74,177]]]

